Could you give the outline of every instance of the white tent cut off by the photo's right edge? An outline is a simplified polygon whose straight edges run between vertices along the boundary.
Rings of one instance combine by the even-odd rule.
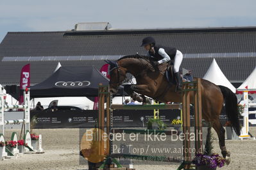
[[[250,91],[255,91],[256,89],[256,67],[253,72],[247,77],[247,79],[237,88],[238,91],[243,91],[244,89],[248,89]]]

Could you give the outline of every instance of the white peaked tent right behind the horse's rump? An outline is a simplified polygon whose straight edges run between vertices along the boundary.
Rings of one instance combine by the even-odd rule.
[[[216,85],[225,86],[235,93],[235,87],[228,81],[228,79],[226,79],[223,72],[221,72],[221,69],[219,68],[215,59],[212,60],[212,64],[205,73],[205,76],[203,76],[203,79],[213,82]]]

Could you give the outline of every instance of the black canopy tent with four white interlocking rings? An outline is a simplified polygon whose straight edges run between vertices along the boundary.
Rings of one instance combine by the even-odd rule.
[[[45,81],[31,86],[30,97],[96,97],[108,79],[94,66],[61,66]]]

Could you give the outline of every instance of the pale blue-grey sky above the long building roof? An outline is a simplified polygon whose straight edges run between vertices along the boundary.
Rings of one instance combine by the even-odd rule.
[[[255,0],[0,0],[0,42],[8,32],[66,31],[78,22],[114,29],[256,26]]]

